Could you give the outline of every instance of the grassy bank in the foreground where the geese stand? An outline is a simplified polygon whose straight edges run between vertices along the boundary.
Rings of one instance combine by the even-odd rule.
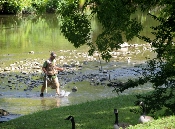
[[[136,98],[133,95],[102,99],[77,105],[64,106],[46,111],[25,115],[15,120],[0,124],[1,129],[71,129],[71,122],[64,120],[69,115],[74,116],[76,129],[112,129],[114,123],[114,108],[119,110],[119,122],[136,125],[139,114],[130,112]],[[158,114],[156,114],[158,115]],[[175,128],[175,117],[160,118],[152,124],[137,125],[130,129],[162,129]]]

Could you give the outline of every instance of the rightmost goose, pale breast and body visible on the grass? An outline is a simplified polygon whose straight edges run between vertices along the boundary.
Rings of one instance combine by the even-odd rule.
[[[139,123],[146,123],[148,121],[154,120],[151,116],[146,116],[146,108],[144,102],[140,102],[139,105],[142,107],[142,114],[139,118]]]

